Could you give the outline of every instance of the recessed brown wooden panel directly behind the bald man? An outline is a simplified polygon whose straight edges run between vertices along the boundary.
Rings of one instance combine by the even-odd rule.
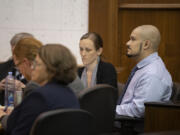
[[[153,24],[157,26],[162,35],[159,55],[163,58],[173,80],[180,81],[180,12],[177,10],[161,9],[120,9],[119,10],[119,80],[124,82],[134,63],[125,56],[126,42],[133,28],[138,25]],[[118,61],[117,61],[118,62]]]

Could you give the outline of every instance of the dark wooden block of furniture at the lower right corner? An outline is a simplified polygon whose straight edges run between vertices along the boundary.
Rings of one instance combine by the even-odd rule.
[[[180,103],[145,103],[145,133],[180,130]]]

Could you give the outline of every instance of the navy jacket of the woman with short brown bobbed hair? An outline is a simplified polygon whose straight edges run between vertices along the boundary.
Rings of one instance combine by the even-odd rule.
[[[8,118],[6,134],[28,135],[40,113],[60,108],[79,108],[72,90],[55,82],[39,87],[15,107]]]

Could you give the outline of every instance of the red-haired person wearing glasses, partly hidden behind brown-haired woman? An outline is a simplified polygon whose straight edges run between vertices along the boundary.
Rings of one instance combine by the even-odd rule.
[[[29,37],[21,39],[13,50],[15,67],[28,81],[28,84],[26,84],[23,89],[19,89],[23,90],[23,98],[25,98],[33,89],[39,87],[37,83],[31,81],[31,66],[39,52],[40,47],[42,47],[42,43],[39,40]],[[17,83],[15,85],[17,85]],[[12,107],[8,107],[5,112],[3,107],[0,109],[0,117],[2,116],[0,118],[0,123],[3,129],[6,129],[8,115],[11,113],[12,109]]]

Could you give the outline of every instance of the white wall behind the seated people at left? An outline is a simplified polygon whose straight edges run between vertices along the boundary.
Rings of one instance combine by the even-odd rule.
[[[0,0],[0,61],[11,56],[9,41],[19,32],[45,43],[62,43],[81,64],[79,39],[88,30],[88,0]]]

